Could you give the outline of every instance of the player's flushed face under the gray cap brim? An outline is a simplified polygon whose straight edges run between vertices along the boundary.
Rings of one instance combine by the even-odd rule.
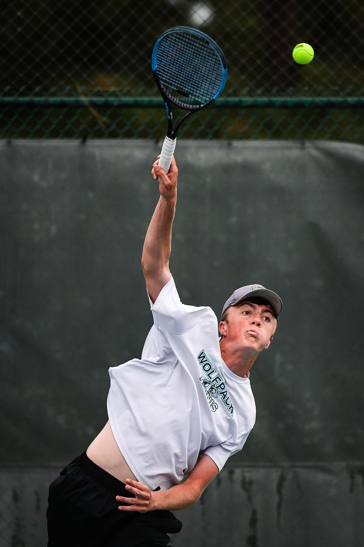
[[[229,322],[225,324],[226,341],[260,352],[270,345],[276,321],[270,306],[243,301],[229,310]]]

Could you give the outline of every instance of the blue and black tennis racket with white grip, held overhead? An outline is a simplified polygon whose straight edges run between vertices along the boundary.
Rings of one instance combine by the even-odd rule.
[[[226,61],[216,42],[195,28],[174,27],[165,31],[154,45],[154,78],[167,110],[168,132],[159,165],[169,171],[178,129],[186,118],[211,104],[226,83]],[[173,129],[171,103],[189,110]]]

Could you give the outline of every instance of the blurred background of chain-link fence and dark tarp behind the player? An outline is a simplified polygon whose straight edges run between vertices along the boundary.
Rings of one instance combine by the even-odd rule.
[[[0,547],[46,545],[49,484],[104,427],[108,369],[151,327],[140,259],[166,133],[151,54],[178,25],[228,63],[178,133],[178,291],[219,316],[261,283],[284,310],[251,371],[255,427],[171,544],[363,547],[359,0],[3,5]]]

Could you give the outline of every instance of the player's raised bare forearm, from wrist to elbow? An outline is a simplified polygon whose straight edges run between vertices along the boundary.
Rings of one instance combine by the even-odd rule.
[[[162,195],[159,197],[144,241],[141,263],[145,275],[156,274],[168,267],[175,209],[176,195],[168,199]]]

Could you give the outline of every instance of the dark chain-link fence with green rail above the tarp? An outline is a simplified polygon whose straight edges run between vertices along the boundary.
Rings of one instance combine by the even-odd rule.
[[[222,96],[180,137],[364,142],[360,0],[13,0],[0,25],[0,136],[164,136],[151,53],[177,25],[210,34],[228,62]],[[309,65],[292,59],[299,42],[315,50]]]

